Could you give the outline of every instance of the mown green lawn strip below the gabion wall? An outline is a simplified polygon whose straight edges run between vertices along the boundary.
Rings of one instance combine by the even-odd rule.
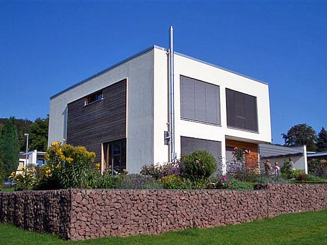
[[[48,234],[20,230],[0,225],[0,244],[327,244],[327,211],[286,214],[271,219],[256,220],[242,225],[210,229],[190,229],[162,235],[100,238],[84,241],[64,241]]]

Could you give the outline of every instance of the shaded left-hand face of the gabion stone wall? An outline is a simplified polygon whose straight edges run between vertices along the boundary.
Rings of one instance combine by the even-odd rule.
[[[0,223],[69,238],[71,190],[0,192]]]

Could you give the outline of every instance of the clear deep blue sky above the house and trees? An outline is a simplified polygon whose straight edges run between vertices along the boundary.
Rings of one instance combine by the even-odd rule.
[[[175,50],[269,84],[273,143],[327,127],[323,2],[0,2],[0,117],[34,120],[51,95],[145,48]]]

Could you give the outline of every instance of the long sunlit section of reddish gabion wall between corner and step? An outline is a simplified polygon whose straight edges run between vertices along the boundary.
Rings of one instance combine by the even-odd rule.
[[[264,191],[73,190],[72,239],[158,234],[267,216]]]

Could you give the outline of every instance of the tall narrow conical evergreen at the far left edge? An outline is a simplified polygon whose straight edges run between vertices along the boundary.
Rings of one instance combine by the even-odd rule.
[[[18,138],[14,117],[7,120],[1,130],[0,152],[4,163],[5,176],[17,169],[19,159]]]

